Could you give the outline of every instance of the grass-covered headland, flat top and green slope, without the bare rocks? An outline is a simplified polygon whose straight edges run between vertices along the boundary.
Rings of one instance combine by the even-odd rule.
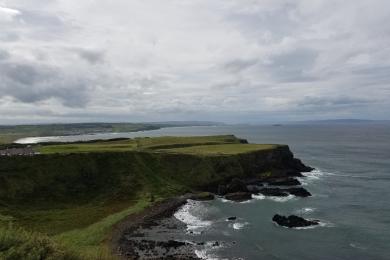
[[[276,148],[241,142],[138,138],[45,145],[44,155],[0,158],[0,223],[49,234],[84,259],[109,259],[110,228],[149,206],[152,194],[163,199],[243,175],[257,156],[243,153]]]

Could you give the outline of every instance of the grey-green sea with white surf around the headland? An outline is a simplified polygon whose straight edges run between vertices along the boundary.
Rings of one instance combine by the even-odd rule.
[[[19,140],[77,141],[116,137],[234,134],[251,143],[289,145],[315,170],[300,178],[313,196],[253,196],[235,203],[222,198],[190,201],[175,216],[197,240],[203,259],[390,259],[390,125],[381,123],[220,125],[172,127]],[[289,229],[274,214],[320,220],[310,228]],[[228,217],[236,217],[227,221]],[[219,241],[215,243],[215,241]]]

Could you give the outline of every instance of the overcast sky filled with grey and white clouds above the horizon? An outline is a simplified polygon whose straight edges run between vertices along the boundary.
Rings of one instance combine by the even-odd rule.
[[[388,0],[0,0],[0,124],[389,111]]]

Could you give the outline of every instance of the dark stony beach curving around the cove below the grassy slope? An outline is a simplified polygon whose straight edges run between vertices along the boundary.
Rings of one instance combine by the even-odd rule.
[[[196,243],[175,239],[177,233],[185,233],[186,224],[177,220],[174,213],[188,199],[196,199],[196,195],[159,201],[117,223],[109,243],[113,254],[120,259],[201,259],[195,254]],[[152,238],[147,235],[149,232],[162,235]]]

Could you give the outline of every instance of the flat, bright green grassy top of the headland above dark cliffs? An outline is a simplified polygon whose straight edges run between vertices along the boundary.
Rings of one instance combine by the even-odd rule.
[[[119,140],[98,140],[64,144],[42,144],[35,148],[41,154],[156,151],[197,155],[229,155],[272,149],[276,145],[248,144],[234,135],[153,137]]]

